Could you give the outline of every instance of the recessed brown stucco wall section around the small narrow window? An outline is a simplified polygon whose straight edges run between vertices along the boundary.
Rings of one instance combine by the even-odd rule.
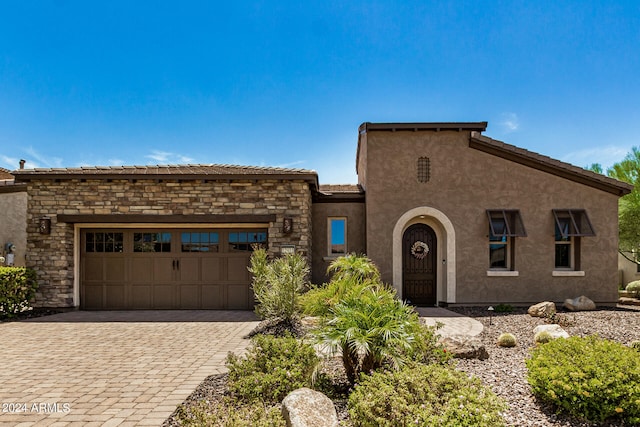
[[[328,218],[347,219],[347,253],[363,254],[366,251],[365,204],[364,203],[314,203],[313,217],[313,264],[311,280],[321,285],[330,278],[325,274],[335,258],[329,256]]]

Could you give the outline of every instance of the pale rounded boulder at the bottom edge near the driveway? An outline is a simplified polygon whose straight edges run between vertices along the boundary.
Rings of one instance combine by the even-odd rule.
[[[306,387],[284,398],[282,416],[287,427],[338,427],[338,414],[331,399]]]

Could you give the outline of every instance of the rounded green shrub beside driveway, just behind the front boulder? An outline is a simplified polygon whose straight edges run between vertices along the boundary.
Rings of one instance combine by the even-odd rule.
[[[244,357],[227,356],[229,391],[241,401],[282,401],[289,392],[311,387],[319,363],[310,344],[292,337],[256,335]]]

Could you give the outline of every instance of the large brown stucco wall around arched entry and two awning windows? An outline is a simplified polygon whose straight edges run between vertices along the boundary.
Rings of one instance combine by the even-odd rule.
[[[449,262],[443,258],[439,297],[457,304],[525,304],[584,294],[597,302],[615,302],[617,196],[469,148],[469,136],[456,131],[368,133],[367,254],[380,267],[383,279],[393,281],[393,230],[399,218],[417,207],[429,207],[446,216],[455,230],[455,296],[441,292],[452,289],[451,283],[443,282]],[[416,178],[420,156],[430,159],[431,177],[426,183]],[[515,239],[517,277],[487,275],[486,209],[520,210],[528,235]],[[581,238],[584,277],[552,275],[552,209],[588,213],[596,236]]]

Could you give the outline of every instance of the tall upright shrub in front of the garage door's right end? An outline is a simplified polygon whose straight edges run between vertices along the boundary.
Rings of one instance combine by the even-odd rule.
[[[258,301],[255,311],[260,318],[291,322],[298,316],[300,294],[309,274],[307,262],[301,255],[291,254],[269,261],[267,251],[259,248],[251,254],[249,271],[253,274],[253,293]]]

